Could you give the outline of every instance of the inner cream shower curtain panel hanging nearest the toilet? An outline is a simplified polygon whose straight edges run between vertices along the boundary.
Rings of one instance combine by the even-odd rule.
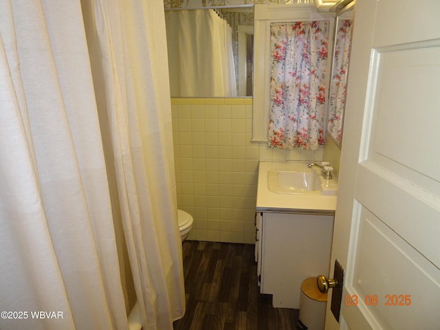
[[[172,329],[185,296],[163,3],[95,0],[94,21],[87,29],[99,44],[92,72],[102,73],[98,111],[108,122],[107,167],[116,177],[137,302],[145,330]]]

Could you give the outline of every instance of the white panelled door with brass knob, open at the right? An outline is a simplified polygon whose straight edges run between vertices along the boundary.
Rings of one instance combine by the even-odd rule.
[[[440,329],[439,95],[440,1],[358,0],[326,329]]]

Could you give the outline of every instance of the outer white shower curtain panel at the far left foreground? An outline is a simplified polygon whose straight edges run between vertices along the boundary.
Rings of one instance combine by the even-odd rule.
[[[0,328],[124,329],[80,5],[0,8]]]

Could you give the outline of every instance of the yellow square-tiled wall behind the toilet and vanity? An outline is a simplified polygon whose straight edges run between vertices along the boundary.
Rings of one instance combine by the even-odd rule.
[[[173,98],[178,207],[194,217],[188,239],[254,243],[260,160],[323,159],[250,142],[252,98]]]

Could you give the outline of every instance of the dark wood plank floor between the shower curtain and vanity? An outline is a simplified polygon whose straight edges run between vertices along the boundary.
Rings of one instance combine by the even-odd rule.
[[[175,330],[294,330],[298,309],[259,294],[254,245],[184,241],[186,314]]]

